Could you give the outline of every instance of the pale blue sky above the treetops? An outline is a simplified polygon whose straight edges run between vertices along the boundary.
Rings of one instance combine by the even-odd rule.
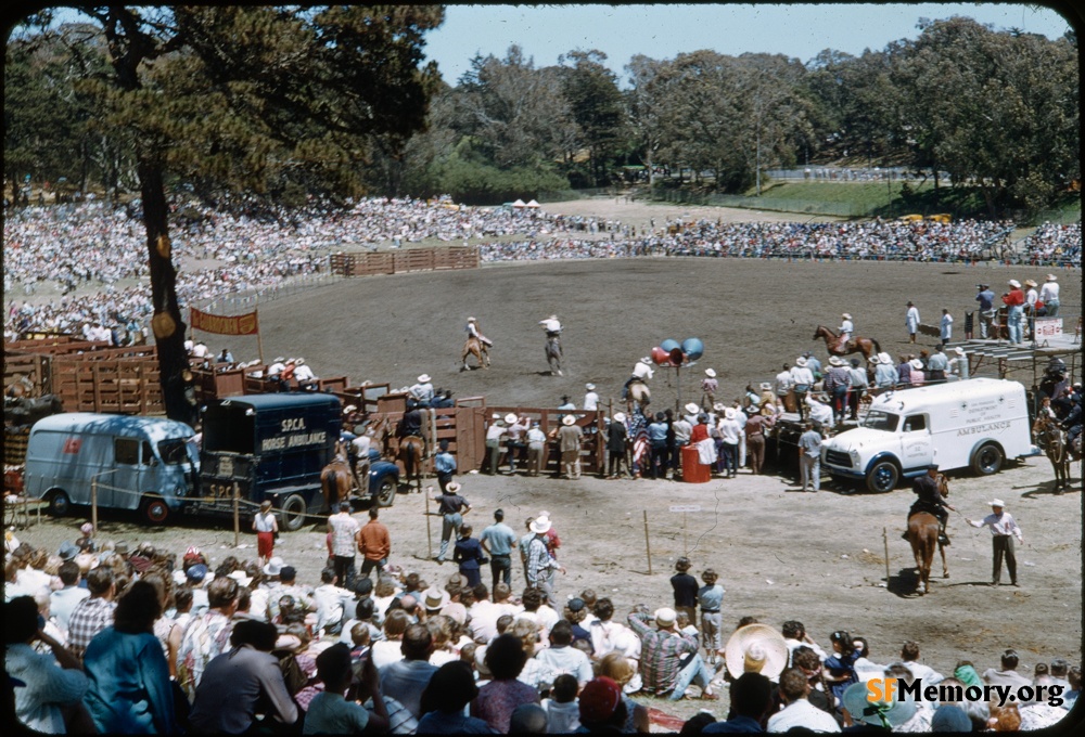
[[[1069,23],[1046,8],[1025,4],[656,4],[656,5],[448,5],[444,25],[426,37],[426,53],[456,83],[476,52],[505,56],[518,43],[536,66],[557,64],[572,50],[599,49],[622,67],[635,54],[674,59],[712,49],[723,54],[782,53],[808,62],[833,49],[861,54],[891,41],[916,38],[919,18],[965,15],[996,30],[1020,28],[1049,38]]]

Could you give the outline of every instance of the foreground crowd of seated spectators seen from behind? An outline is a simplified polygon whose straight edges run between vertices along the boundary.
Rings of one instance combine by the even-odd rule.
[[[1004,732],[1058,723],[1081,690],[1081,668],[1059,657],[1025,665],[1006,649],[939,673],[921,643],[890,647],[846,626],[861,622],[808,633],[803,612],[741,617],[718,574],[698,581],[685,557],[671,591],[631,611],[592,590],[564,602],[547,586],[513,595],[519,566],[511,576],[464,567],[461,547],[478,545],[468,527],[460,570],[443,581],[387,565],[386,552],[383,568],[352,566],[341,581],[335,536],[346,529],[353,541],[360,527],[348,512],[329,521],[341,516],[348,523],[330,523],[319,581],[273,549],[216,563],[194,547],[104,541],[86,522],[50,552],[9,531],[4,681],[15,715],[51,734]],[[366,527],[376,523],[371,514]],[[495,514],[481,538],[495,558],[502,541],[519,552],[528,581],[558,568],[549,517],[521,536]],[[869,680],[882,676],[939,696],[868,701]],[[705,709],[668,714],[682,699]]]

